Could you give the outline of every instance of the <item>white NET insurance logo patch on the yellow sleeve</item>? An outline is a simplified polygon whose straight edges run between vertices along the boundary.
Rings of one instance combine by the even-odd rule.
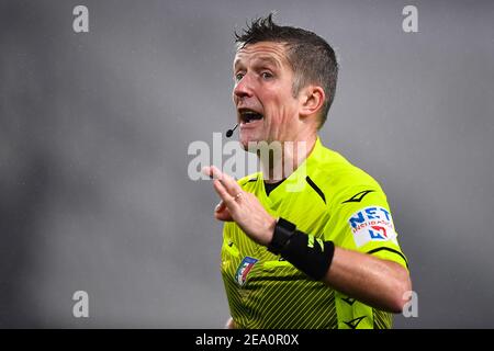
[[[393,218],[388,210],[371,206],[356,212],[348,219],[357,247],[369,241],[388,241],[396,237]]]

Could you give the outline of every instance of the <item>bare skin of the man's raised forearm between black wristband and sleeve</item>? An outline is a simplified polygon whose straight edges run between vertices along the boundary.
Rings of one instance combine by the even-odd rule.
[[[404,294],[412,290],[408,272],[398,263],[335,247],[323,281],[370,306],[401,313]]]

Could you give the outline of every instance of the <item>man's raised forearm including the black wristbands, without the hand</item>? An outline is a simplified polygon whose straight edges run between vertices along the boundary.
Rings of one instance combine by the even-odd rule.
[[[315,280],[370,306],[400,313],[411,290],[408,272],[400,264],[336,247],[294,229],[280,219],[268,249]]]

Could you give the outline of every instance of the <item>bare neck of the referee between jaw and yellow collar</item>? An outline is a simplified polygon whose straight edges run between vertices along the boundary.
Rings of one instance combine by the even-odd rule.
[[[314,148],[317,135],[304,140],[271,143],[268,151],[258,151],[265,181],[276,183],[287,179],[308,157]]]

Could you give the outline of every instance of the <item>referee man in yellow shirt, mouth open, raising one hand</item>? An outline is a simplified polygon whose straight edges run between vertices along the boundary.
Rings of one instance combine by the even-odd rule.
[[[282,155],[261,159],[265,171],[238,182],[204,168],[221,197],[214,216],[225,222],[227,326],[390,328],[412,286],[386,197],[317,136],[335,95],[333,48],[271,15],[236,38],[239,141],[246,150],[280,143]],[[305,151],[287,147],[293,143]],[[304,186],[290,190],[293,181]]]

